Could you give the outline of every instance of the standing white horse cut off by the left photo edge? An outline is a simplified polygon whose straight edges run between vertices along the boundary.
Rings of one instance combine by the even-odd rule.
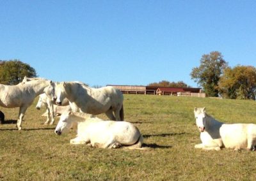
[[[0,106],[4,108],[19,107],[19,118],[17,128],[22,129],[21,122],[27,108],[33,103],[36,96],[46,93],[54,94],[51,80],[36,80],[28,83],[19,83],[18,85],[0,84]]]

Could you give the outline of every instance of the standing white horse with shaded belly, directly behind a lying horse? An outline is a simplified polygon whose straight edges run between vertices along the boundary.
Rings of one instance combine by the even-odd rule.
[[[114,87],[94,89],[78,82],[61,82],[56,83],[55,95],[52,96],[55,96],[57,105],[61,105],[63,99],[67,98],[80,112],[93,115],[106,113],[110,120],[124,120],[124,97]]]

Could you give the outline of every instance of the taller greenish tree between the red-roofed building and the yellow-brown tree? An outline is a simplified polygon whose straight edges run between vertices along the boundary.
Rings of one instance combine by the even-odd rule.
[[[218,97],[218,82],[223,74],[223,69],[227,66],[228,63],[220,52],[210,52],[210,54],[202,55],[200,66],[193,68],[190,76],[203,87],[207,96]]]

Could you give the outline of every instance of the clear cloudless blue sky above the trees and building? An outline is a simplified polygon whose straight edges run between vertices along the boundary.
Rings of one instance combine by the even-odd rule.
[[[93,85],[179,80],[203,54],[256,66],[256,1],[0,1],[0,59]]]

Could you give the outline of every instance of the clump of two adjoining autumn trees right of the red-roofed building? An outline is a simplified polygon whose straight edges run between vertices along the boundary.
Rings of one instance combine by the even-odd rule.
[[[220,52],[202,55],[200,66],[193,68],[190,75],[202,86],[207,96],[256,98],[256,68],[242,65],[231,68]]]

